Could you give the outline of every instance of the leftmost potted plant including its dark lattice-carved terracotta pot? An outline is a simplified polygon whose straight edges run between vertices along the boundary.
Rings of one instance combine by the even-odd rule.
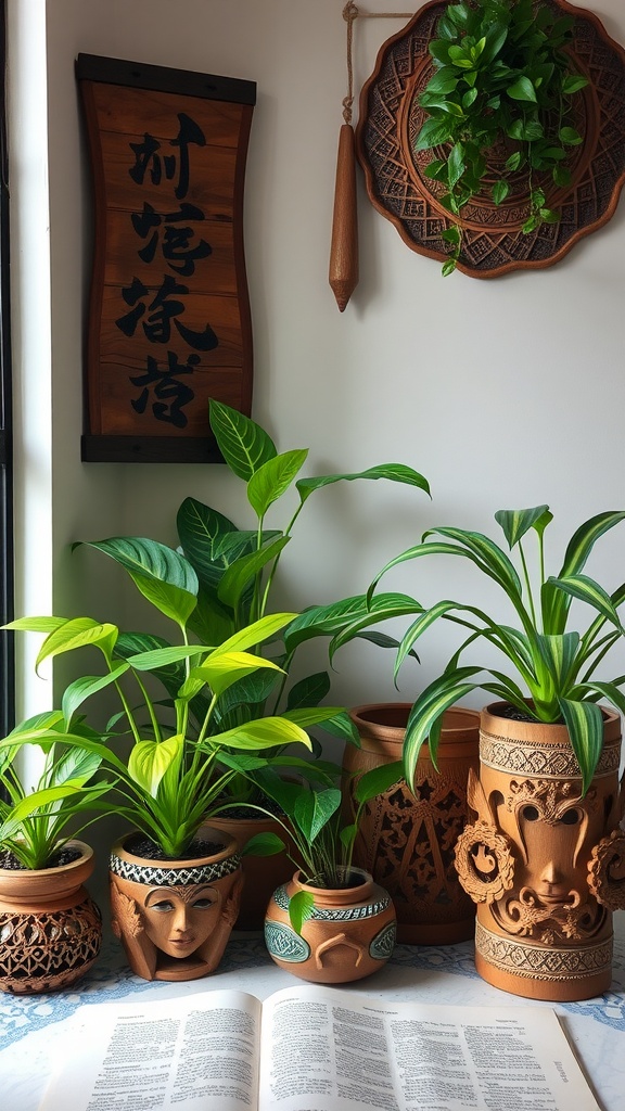
[[[61,731],[62,714],[46,713],[0,741],[0,990],[14,994],[70,987],[102,941],[100,911],[83,887],[93,850],[78,834],[110,782],[95,780],[101,758],[63,744]],[[27,742],[42,750],[32,790],[17,767]]]

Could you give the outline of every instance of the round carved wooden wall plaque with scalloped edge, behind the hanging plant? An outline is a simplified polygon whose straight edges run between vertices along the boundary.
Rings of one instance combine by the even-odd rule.
[[[558,223],[543,223],[523,233],[528,198],[522,176],[512,181],[502,204],[495,206],[484,192],[464,208],[458,269],[473,278],[557,262],[577,240],[609,220],[625,181],[625,51],[593,12],[566,0],[549,0],[549,4],[575,17],[575,66],[589,81],[576,98],[575,126],[584,142],[568,162],[572,184],[558,189],[546,182],[549,206],[562,212]],[[408,247],[440,260],[448,258],[442,232],[454,221],[439,200],[445,188],[425,176],[428,162],[440,154],[415,151],[415,140],[425,119],[418,97],[434,72],[428,44],[446,7],[439,0],[425,4],[383,44],[374,73],[363,87],[356,131],[371,203],[395,224]],[[504,149],[492,152],[495,171],[506,157]]]

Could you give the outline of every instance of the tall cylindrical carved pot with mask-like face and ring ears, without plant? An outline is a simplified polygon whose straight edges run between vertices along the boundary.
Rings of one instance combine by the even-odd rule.
[[[625,908],[618,829],[619,719],[605,711],[597,772],[582,798],[565,725],[482,713],[480,772],[469,781],[477,820],[457,848],[477,903],[476,968],[529,999],[589,999],[612,980],[612,911]]]

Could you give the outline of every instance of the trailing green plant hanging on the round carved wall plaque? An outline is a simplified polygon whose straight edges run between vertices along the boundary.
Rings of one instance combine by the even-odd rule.
[[[436,72],[419,96],[427,119],[415,146],[446,152],[426,169],[446,187],[440,203],[456,218],[443,232],[444,274],[460,258],[464,206],[484,191],[502,204],[519,172],[528,197],[523,231],[558,222],[546,189],[549,179],[571,184],[567,159],[583,142],[573,98],[588,83],[566,50],[573,26],[543,0],[462,0],[438,20],[429,43]],[[506,157],[490,159],[494,150]]]

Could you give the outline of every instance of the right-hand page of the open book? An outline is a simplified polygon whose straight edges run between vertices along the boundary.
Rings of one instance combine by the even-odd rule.
[[[259,1111],[599,1111],[555,1012],[306,987],[264,1004]]]

